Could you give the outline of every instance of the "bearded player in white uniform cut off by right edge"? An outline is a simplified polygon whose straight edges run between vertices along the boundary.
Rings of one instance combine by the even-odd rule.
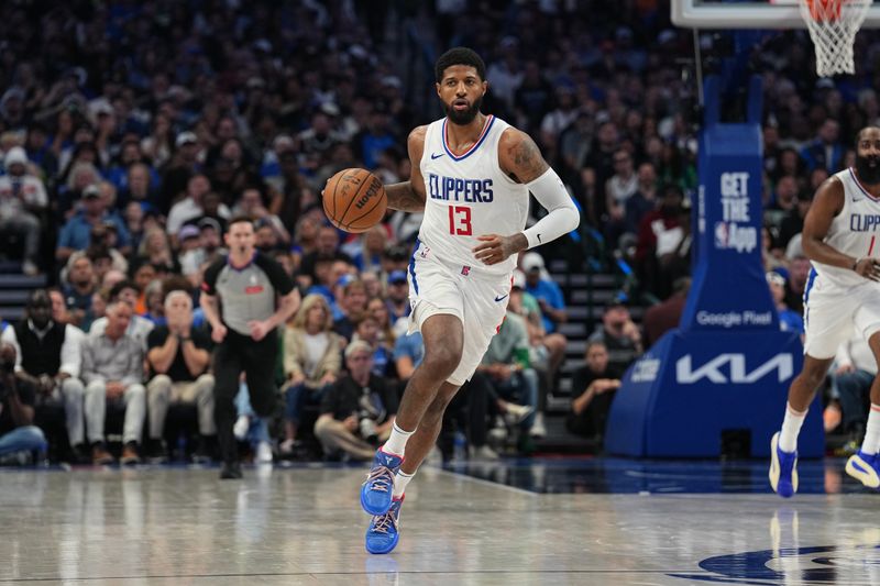
[[[770,485],[781,497],[798,491],[798,434],[837,346],[855,327],[880,363],[880,128],[856,137],[856,168],[828,178],[804,219],[804,253],[813,264],[804,291],[804,365],[792,380],[782,430],[770,442]],[[880,378],[871,385],[871,411],[861,449],[846,472],[880,487]]]

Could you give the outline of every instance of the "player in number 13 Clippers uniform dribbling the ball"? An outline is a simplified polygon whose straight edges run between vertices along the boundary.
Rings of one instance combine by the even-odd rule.
[[[535,142],[480,111],[485,70],[469,48],[438,59],[436,88],[447,115],[409,134],[410,180],[386,187],[391,208],[425,212],[408,268],[410,331],[421,331],[425,357],[361,489],[361,505],[374,516],[366,532],[371,553],[397,544],[406,486],[504,319],[517,253],[580,223]],[[529,191],[549,213],[525,230]]]

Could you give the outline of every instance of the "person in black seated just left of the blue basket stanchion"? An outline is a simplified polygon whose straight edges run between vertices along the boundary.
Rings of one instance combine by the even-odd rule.
[[[602,445],[605,424],[615,391],[620,388],[622,373],[608,361],[608,351],[603,342],[586,344],[586,365],[572,377],[571,413],[565,427],[576,435],[594,439]]]

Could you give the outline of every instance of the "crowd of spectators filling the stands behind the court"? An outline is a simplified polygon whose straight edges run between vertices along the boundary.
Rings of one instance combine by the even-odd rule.
[[[668,14],[659,0],[2,3],[0,250],[57,285],[48,290],[52,320],[67,332],[58,364],[20,366],[33,375],[37,407],[85,401],[79,416],[68,410],[69,441],[84,444],[82,457],[106,460],[94,450],[103,450],[98,396],[122,401],[131,449],[123,457],[132,460],[162,456],[167,405],[193,402],[199,453],[208,453],[210,367],[201,362],[210,342],[200,342],[204,317],[193,308],[202,269],[224,252],[228,220],[244,213],[255,219],[257,247],[295,277],[305,299],[284,333],[293,354],[278,365],[282,423],[255,442],[265,451],[274,436],[276,452],[295,451],[304,413],[317,409],[340,422],[321,420],[324,446],[353,445],[343,432],[364,430],[340,406],[372,379],[353,376],[349,363],[362,362],[369,345],[371,376],[387,377],[399,394],[420,360],[405,328],[406,267],[420,218],[389,212],[362,236],[341,233],[326,222],[320,190],[346,167],[370,168],[385,183],[408,178],[407,133],[441,115],[432,56],[458,44],[487,64],[484,111],[529,132],[570,188],[583,213],[579,245],[603,263],[615,253],[627,261],[639,291],[670,298],[674,313],[690,268],[698,121],[696,88],[683,75],[691,33],[673,29]],[[721,38],[704,34],[701,48],[711,55]],[[765,80],[762,242],[781,310],[801,309],[809,263],[799,233],[813,191],[851,165],[850,139],[880,115],[878,46],[876,35],[860,34],[859,75],[838,80],[804,75],[812,46],[803,32],[768,34],[739,55]],[[573,240],[539,252],[548,257]],[[541,254],[526,255],[516,277],[512,311],[522,320],[510,320],[507,345],[463,394],[465,403],[485,407],[490,427],[524,427],[524,436],[542,432],[565,351],[558,331],[564,301]],[[168,296],[175,290],[188,294],[188,309]],[[42,343],[41,303],[4,336],[30,331]],[[644,350],[626,312],[608,307],[591,339],[584,360],[595,376],[604,373],[596,380],[619,376]],[[670,316],[664,322],[674,323]],[[652,330],[648,344],[660,333]],[[101,335],[130,336],[132,361],[142,353],[147,369],[101,365]],[[185,340],[199,352],[180,362],[172,346]],[[572,389],[574,413],[604,405],[596,397],[615,388],[593,378],[575,377],[587,386]],[[341,380],[348,395],[331,394]],[[373,417],[381,430],[394,401],[371,400],[383,408],[359,411],[382,414]],[[251,416],[240,416],[244,438]],[[603,418],[590,417],[572,429],[601,433]],[[484,445],[468,417],[458,427]]]

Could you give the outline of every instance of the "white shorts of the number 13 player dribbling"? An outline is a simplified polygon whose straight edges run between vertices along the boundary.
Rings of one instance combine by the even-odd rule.
[[[409,331],[421,331],[425,321],[439,313],[459,318],[464,347],[459,367],[447,379],[461,386],[473,376],[492,336],[504,321],[510,299],[510,276],[479,278],[469,266],[452,267],[433,258],[420,245],[407,269],[409,279]],[[479,261],[474,259],[474,264]],[[457,270],[458,269],[458,270]]]

